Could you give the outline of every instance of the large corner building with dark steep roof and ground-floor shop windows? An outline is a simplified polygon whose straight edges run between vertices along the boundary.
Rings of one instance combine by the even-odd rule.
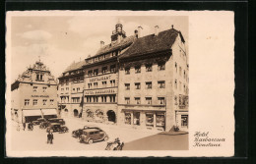
[[[173,27],[139,37],[119,56],[118,124],[169,131],[188,128],[185,40]]]

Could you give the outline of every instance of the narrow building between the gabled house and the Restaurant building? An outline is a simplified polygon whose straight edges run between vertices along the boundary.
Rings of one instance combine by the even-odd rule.
[[[85,61],[72,63],[58,78],[58,102],[62,116],[82,117]]]

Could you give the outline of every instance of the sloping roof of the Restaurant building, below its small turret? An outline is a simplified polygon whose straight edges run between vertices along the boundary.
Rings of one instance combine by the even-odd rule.
[[[126,48],[127,46],[131,45],[134,41],[136,40],[136,36],[135,35],[131,35],[129,37],[125,37],[123,38],[119,43],[118,42],[113,42],[110,44],[107,44],[105,46],[103,46],[102,48],[99,48],[98,51],[96,52],[96,55],[94,55],[93,57],[96,57],[98,55],[101,54],[105,54],[117,49],[123,49]],[[93,58],[91,57],[91,58]]]

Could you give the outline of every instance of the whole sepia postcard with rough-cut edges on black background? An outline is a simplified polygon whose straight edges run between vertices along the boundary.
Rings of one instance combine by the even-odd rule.
[[[6,17],[6,154],[233,156],[234,15]]]

